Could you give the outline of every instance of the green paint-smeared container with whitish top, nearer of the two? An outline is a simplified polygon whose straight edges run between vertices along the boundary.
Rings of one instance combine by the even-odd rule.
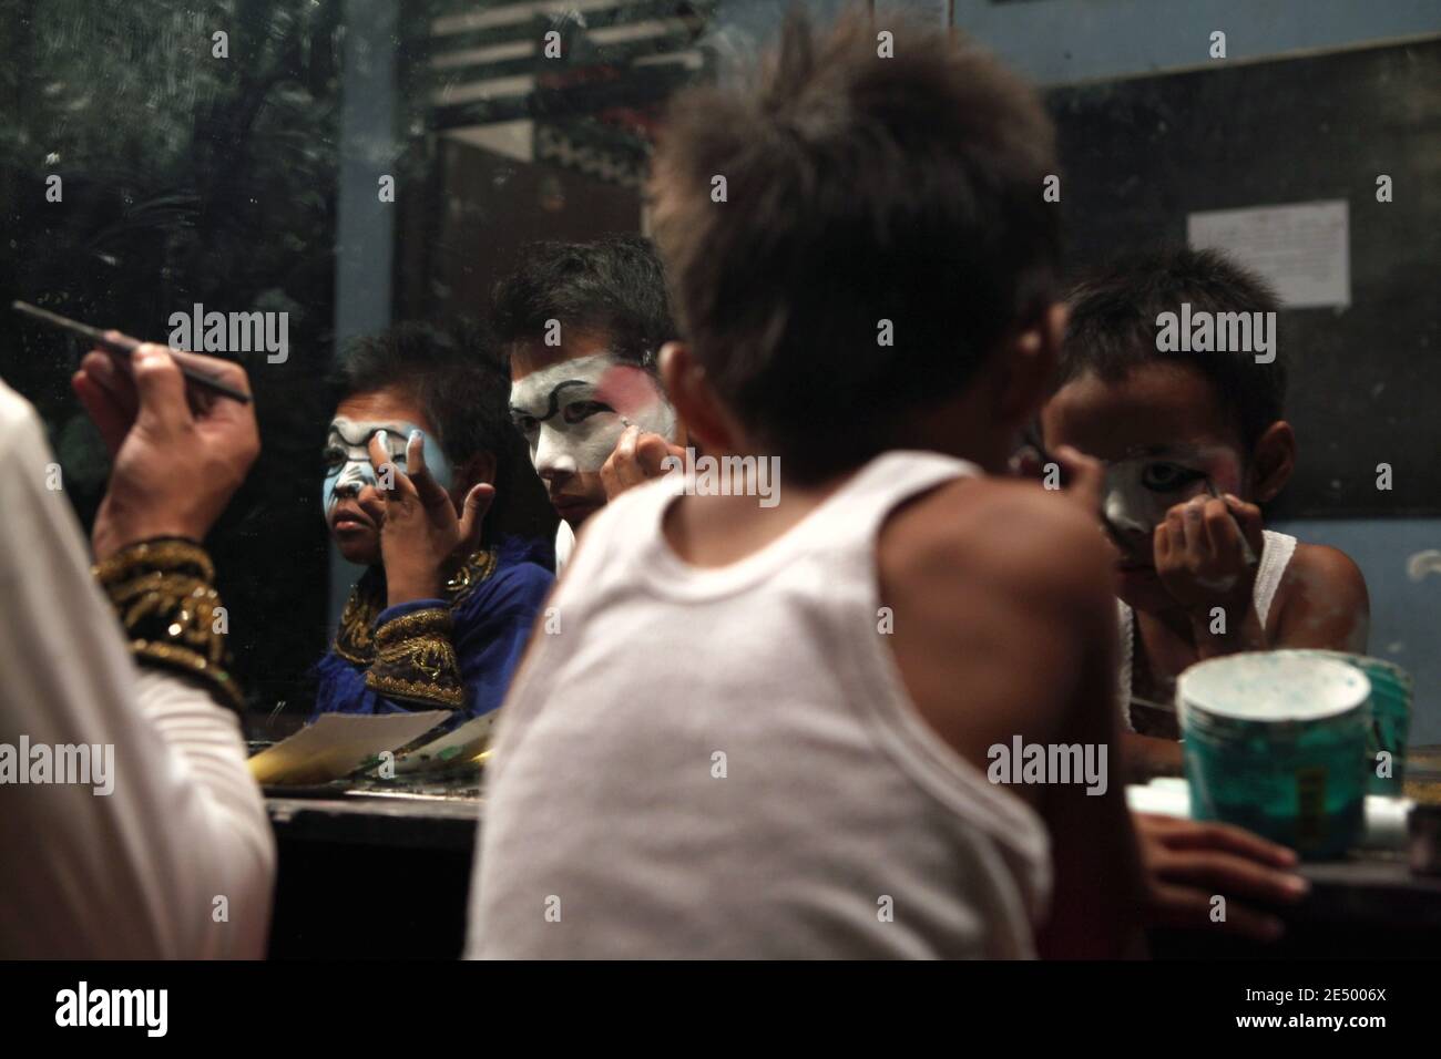
[[[1362,834],[1370,682],[1298,651],[1210,658],[1176,683],[1192,816],[1339,857]]]

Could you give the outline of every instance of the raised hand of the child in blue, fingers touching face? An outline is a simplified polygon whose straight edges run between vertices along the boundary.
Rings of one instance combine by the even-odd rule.
[[[385,565],[386,602],[441,596],[445,579],[480,543],[480,530],[496,499],[496,487],[480,483],[465,494],[457,517],[450,493],[425,467],[425,435],[412,431],[405,447],[405,471],[391,461],[385,431],[369,444],[378,491],[385,499],[380,527],[380,560]],[[389,475],[386,474],[389,468]],[[386,480],[391,478],[386,488]]]

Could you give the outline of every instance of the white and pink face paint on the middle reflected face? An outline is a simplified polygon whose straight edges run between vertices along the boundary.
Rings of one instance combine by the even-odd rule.
[[[510,418],[537,473],[601,470],[625,422],[672,439],[676,412],[643,367],[597,353],[532,372],[510,386]]]

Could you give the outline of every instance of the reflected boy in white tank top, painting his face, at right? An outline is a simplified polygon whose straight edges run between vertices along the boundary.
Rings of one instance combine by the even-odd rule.
[[[1107,467],[1102,519],[1115,550],[1121,696],[1143,771],[1179,771],[1177,674],[1218,654],[1275,647],[1363,651],[1366,584],[1334,548],[1262,527],[1295,464],[1280,360],[1251,352],[1157,352],[1156,318],[1274,311],[1265,284],[1212,251],[1130,256],[1071,300],[1046,445]]]

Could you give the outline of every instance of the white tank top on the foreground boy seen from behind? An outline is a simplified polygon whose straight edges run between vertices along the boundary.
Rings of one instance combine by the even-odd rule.
[[[1045,826],[922,722],[878,631],[886,514],[978,473],[878,457],[719,569],[666,543],[666,480],[595,514],[501,712],[468,954],[1035,955]]]

